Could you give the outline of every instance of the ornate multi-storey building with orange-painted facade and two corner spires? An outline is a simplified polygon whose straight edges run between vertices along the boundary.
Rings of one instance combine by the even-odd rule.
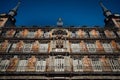
[[[105,27],[16,27],[20,2],[0,14],[0,79],[120,79],[120,15]]]

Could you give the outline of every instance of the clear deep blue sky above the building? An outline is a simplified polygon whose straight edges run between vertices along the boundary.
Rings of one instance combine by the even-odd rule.
[[[17,26],[56,25],[63,19],[64,26],[104,26],[100,0],[21,0],[16,18]],[[8,13],[18,0],[0,0],[0,13]],[[120,14],[120,0],[102,0],[112,11]]]

